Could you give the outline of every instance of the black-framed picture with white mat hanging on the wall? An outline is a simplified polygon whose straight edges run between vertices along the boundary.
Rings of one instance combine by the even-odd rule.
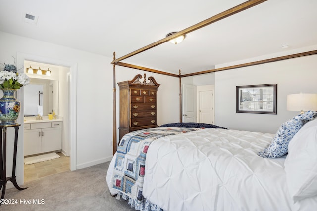
[[[277,114],[277,84],[237,86],[236,112]]]

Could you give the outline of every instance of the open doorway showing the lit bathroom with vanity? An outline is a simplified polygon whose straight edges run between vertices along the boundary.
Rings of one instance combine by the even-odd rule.
[[[59,158],[55,158],[52,160],[47,160],[39,163],[33,163],[29,165],[24,164],[24,181],[32,181],[44,176],[52,175],[55,173],[65,172],[67,170],[70,170],[70,162],[69,162],[69,156],[70,156],[70,134],[69,134],[69,99],[70,99],[70,82],[69,82],[69,74],[70,74],[70,68],[64,67],[64,66],[58,66],[58,65],[52,65],[52,64],[46,64],[46,63],[40,63],[40,62],[34,62],[25,60],[24,61],[24,67],[27,70],[27,75],[30,78],[30,84],[24,88],[24,104],[22,106],[24,107],[24,125],[30,127],[24,127],[24,157],[34,157],[41,154],[48,154],[54,151],[54,153],[57,153],[57,156],[60,156]],[[38,69],[43,70],[50,70],[50,75],[46,74],[39,74],[37,72]],[[31,71],[30,71],[31,70]],[[46,72],[47,72],[46,71]],[[44,73],[46,73],[44,72]],[[41,96],[37,100],[32,101],[32,96],[34,93],[32,92],[33,89],[29,89],[31,85],[41,86],[42,89],[39,91],[41,93]],[[41,99],[41,102],[40,102]],[[42,113],[39,113],[38,108],[41,107]],[[53,114],[53,121],[56,119],[56,121],[60,121],[61,128],[55,127],[54,130],[52,128],[52,131],[46,128],[41,129],[46,130],[44,132],[45,135],[42,134],[43,137],[33,137],[30,134],[36,133],[39,129],[32,129],[32,125],[39,125],[42,123],[29,123],[29,121],[36,118],[37,115],[40,115],[41,118],[44,120],[47,119],[48,114]],[[46,122],[49,123],[49,122]],[[43,123],[43,124],[46,124]],[[57,122],[52,122],[57,123]],[[54,124],[55,125],[55,124]],[[59,124],[58,124],[59,125]],[[46,126],[47,127],[47,126]],[[53,127],[53,126],[52,126]],[[57,129],[57,130],[56,130]],[[58,134],[56,133],[58,132]],[[48,134],[51,134],[49,135]],[[56,133],[56,134],[55,134]],[[47,141],[49,141],[50,144],[47,145]],[[44,141],[47,140],[47,141]],[[60,145],[59,145],[59,144]],[[45,145],[44,145],[45,144]],[[29,146],[31,145],[31,146]],[[57,146],[56,146],[57,145]],[[39,146],[39,150],[36,151],[34,146]],[[44,149],[43,146],[47,146],[47,149]],[[33,152],[30,152],[28,150],[29,148],[32,148]],[[53,148],[52,148],[53,147]],[[52,148],[52,149],[51,149]],[[36,154],[34,154],[36,153]],[[51,153],[52,154],[52,153]]]

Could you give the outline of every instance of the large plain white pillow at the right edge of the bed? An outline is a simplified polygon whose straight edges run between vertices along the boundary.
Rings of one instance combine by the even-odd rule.
[[[289,142],[285,172],[295,202],[317,195],[317,118],[306,123]]]

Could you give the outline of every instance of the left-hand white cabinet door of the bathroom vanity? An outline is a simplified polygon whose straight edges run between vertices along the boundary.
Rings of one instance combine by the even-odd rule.
[[[24,156],[41,153],[41,129],[24,130]]]

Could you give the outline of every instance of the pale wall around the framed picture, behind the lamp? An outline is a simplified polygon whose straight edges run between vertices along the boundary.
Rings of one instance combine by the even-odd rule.
[[[286,96],[317,93],[317,55],[215,73],[215,123],[239,130],[275,133],[299,114],[286,110]],[[236,113],[236,86],[277,84],[277,115]]]

